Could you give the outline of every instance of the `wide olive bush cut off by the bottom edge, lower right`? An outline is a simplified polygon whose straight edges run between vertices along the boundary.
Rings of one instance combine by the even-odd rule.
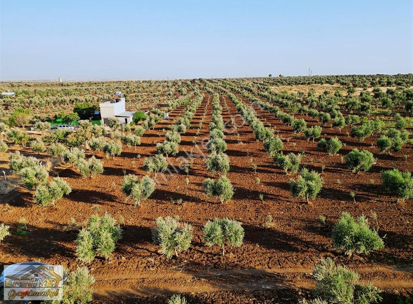
[[[313,277],[316,279],[313,294],[318,297],[318,301],[312,301],[311,304],[368,304],[382,299],[381,290],[371,284],[360,285],[359,290],[356,290],[358,274],[346,267],[335,265],[330,257],[321,260],[314,268]]]

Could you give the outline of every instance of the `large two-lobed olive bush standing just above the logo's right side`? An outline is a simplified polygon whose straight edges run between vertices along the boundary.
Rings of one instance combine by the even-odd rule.
[[[115,243],[122,238],[122,230],[116,220],[105,213],[102,217],[93,215],[88,226],[82,228],[76,240],[76,256],[78,260],[90,263],[95,256],[106,260],[115,250]]]

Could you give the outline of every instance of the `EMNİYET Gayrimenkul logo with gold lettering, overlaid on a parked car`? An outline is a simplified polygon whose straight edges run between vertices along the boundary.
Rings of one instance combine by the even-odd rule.
[[[63,266],[40,262],[5,265],[0,283],[5,300],[61,300]]]

